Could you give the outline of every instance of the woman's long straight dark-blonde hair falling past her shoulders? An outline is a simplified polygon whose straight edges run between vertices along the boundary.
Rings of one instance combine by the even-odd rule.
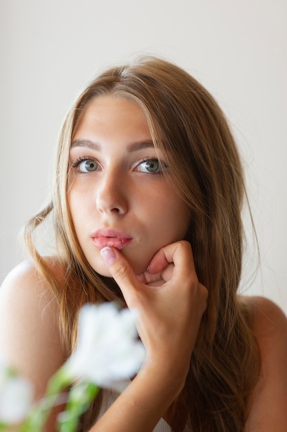
[[[118,300],[124,305],[114,281],[98,275],[83,255],[67,205],[71,139],[83,108],[99,95],[136,102],[147,117],[156,148],[166,150],[174,187],[191,209],[186,239],[193,248],[198,278],[209,289],[187,382],[169,409],[169,421],[174,431],[181,431],[186,420],[197,432],[243,431],[259,360],[248,313],[237,299],[245,195],[242,164],[213,97],[187,72],[162,59],[145,58],[111,68],[81,93],[59,137],[51,202],[26,226],[28,250],[61,308],[67,355],[76,343],[76,315],[83,303]],[[47,215],[54,221],[56,262],[65,269],[61,289],[32,242],[36,226]],[[84,416],[83,431],[95,420],[97,410],[92,407]]]

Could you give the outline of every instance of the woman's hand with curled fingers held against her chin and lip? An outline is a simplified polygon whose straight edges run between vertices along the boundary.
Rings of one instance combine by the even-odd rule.
[[[180,241],[164,246],[140,275],[117,249],[105,248],[102,255],[127,306],[140,313],[145,367],[178,377],[183,385],[207,299],[195,273],[191,245]]]

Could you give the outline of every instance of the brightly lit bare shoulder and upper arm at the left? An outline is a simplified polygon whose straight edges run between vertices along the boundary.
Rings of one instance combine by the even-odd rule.
[[[14,268],[0,288],[0,351],[38,395],[65,358],[58,317],[52,290],[33,264]]]

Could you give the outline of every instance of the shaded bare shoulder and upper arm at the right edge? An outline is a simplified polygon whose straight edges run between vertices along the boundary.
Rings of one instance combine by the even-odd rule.
[[[264,297],[243,297],[248,305],[261,360],[259,380],[250,398],[246,432],[284,432],[287,424],[287,318]]]

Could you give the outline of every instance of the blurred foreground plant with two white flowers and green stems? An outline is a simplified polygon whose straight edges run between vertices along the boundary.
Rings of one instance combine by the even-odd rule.
[[[51,377],[42,400],[32,404],[30,383],[0,361],[0,431],[18,424],[21,432],[41,432],[52,407],[64,402],[58,429],[74,432],[99,389],[123,391],[144,359],[134,311],[118,311],[112,303],[85,304],[78,317],[76,350]]]

